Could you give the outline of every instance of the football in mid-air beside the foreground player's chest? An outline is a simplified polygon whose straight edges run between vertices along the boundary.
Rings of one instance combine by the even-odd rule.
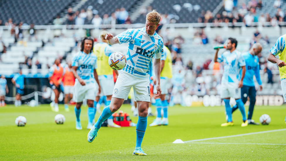
[[[114,52],[108,58],[109,66],[114,70],[122,70],[126,65],[125,55],[121,52]]]

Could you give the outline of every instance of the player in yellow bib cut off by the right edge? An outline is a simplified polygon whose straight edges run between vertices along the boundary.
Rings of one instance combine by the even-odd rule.
[[[284,102],[286,102],[286,49],[285,49],[286,34],[282,35],[276,41],[276,44],[270,49],[268,61],[277,63],[279,66],[279,74],[281,79],[281,88],[283,93]],[[279,56],[276,58],[275,56]]]

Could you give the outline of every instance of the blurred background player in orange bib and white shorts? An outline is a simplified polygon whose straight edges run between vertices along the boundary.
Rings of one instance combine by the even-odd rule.
[[[74,91],[74,74],[72,73],[71,62],[67,63],[67,66],[64,67],[64,76],[62,79],[64,85],[64,110],[69,111],[69,106],[67,105],[69,101],[72,99],[72,94]]]

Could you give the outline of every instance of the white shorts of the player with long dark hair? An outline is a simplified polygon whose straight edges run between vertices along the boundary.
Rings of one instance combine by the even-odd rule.
[[[95,83],[86,83],[82,86],[79,81],[74,83],[74,100],[76,103],[82,102],[84,99],[95,100],[96,86]]]

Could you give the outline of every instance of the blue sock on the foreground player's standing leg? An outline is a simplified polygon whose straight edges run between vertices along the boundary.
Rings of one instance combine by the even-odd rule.
[[[147,128],[147,117],[138,116],[138,122],[136,126],[136,146],[135,148],[141,148],[141,143]]]

